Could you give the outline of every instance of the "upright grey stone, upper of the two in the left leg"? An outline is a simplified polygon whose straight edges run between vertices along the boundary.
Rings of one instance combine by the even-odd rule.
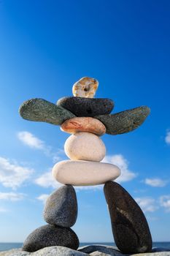
[[[72,227],[77,219],[77,197],[74,187],[64,185],[53,192],[45,204],[45,222]]]

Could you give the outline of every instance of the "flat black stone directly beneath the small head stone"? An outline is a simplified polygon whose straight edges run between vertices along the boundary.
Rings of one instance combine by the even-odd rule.
[[[98,116],[111,113],[112,99],[63,97],[58,99],[58,106],[74,113],[75,116]]]

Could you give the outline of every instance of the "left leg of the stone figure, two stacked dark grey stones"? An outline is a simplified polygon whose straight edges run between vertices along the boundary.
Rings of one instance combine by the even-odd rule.
[[[24,251],[35,252],[56,245],[78,248],[79,239],[70,228],[77,219],[77,197],[72,186],[63,186],[47,198],[44,219],[48,224],[37,228],[26,238]]]

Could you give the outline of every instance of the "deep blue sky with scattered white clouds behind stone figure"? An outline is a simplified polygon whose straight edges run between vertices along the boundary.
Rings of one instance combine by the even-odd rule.
[[[96,97],[113,112],[148,105],[134,132],[104,135],[107,162],[144,210],[153,241],[170,229],[170,2],[0,1],[0,241],[24,241],[44,225],[43,200],[58,187],[55,162],[68,134],[20,118],[26,99],[72,96],[83,76],[98,79]],[[77,188],[80,241],[113,241],[101,187]]]

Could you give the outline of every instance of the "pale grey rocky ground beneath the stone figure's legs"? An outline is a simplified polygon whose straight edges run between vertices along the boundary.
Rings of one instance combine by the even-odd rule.
[[[36,252],[24,252],[21,249],[11,249],[0,252],[0,256],[123,256],[115,246],[89,245],[82,246],[79,249],[69,249],[63,246],[49,246]],[[134,254],[133,254],[134,255]],[[127,256],[127,255],[126,255]],[[132,256],[132,255],[131,255]],[[170,249],[153,248],[150,253],[139,253],[136,256],[170,256]]]

